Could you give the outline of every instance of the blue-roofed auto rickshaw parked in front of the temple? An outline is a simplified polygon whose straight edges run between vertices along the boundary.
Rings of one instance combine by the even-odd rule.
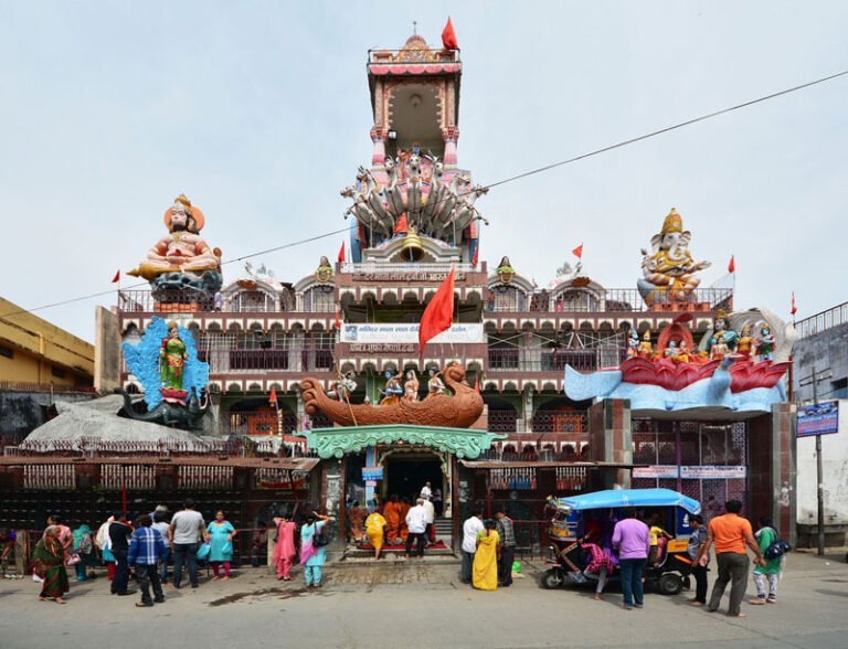
[[[697,500],[671,489],[612,489],[571,498],[551,498],[554,510],[548,535],[551,540],[549,570],[542,575],[542,586],[558,588],[563,584],[582,584],[591,575],[585,572],[584,543],[591,540],[608,545],[615,523],[624,510],[638,510],[642,520],[653,520],[671,536],[662,543],[661,554],[648,565],[646,586],[664,595],[677,595],[689,586],[692,568],[687,547],[692,529],[689,514],[701,512]],[[618,579],[617,562],[610,581]]]

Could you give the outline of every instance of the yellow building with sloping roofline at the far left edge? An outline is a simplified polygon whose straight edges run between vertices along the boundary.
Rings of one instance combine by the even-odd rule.
[[[0,387],[88,387],[93,380],[93,344],[0,298]]]

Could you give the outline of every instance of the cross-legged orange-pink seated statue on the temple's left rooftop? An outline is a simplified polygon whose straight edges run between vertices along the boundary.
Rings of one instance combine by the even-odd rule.
[[[190,299],[213,296],[223,285],[221,251],[200,236],[204,223],[203,212],[180,194],[165,212],[168,234],[127,274],[147,279],[160,301],[173,301],[174,289],[187,291]]]

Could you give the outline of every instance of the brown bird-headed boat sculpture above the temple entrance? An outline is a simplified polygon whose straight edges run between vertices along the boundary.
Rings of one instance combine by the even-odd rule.
[[[454,395],[435,394],[424,401],[400,400],[392,405],[348,404],[327,396],[315,379],[300,382],[304,407],[309,415],[319,412],[340,426],[372,426],[383,424],[414,424],[468,428],[483,414],[483,397],[465,382],[465,370],[449,365],[443,373],[445,384]]]

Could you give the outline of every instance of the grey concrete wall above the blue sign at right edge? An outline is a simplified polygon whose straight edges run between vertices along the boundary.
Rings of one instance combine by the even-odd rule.
[[[816,372],[828,369],[831,372],[829,379],[820,381],[818,384],[819,400],[848,396],[846,392],[835,392],[835,389],[839,390],[839,386],[834,385],[848,379],[848,324],[840,324],[798,340],[793,349],[793,354],[795,358],[793,386],[796,401],[810,401],[813,398],[813,386],[799,386],[798,383],[813,373],[814,366]]]

